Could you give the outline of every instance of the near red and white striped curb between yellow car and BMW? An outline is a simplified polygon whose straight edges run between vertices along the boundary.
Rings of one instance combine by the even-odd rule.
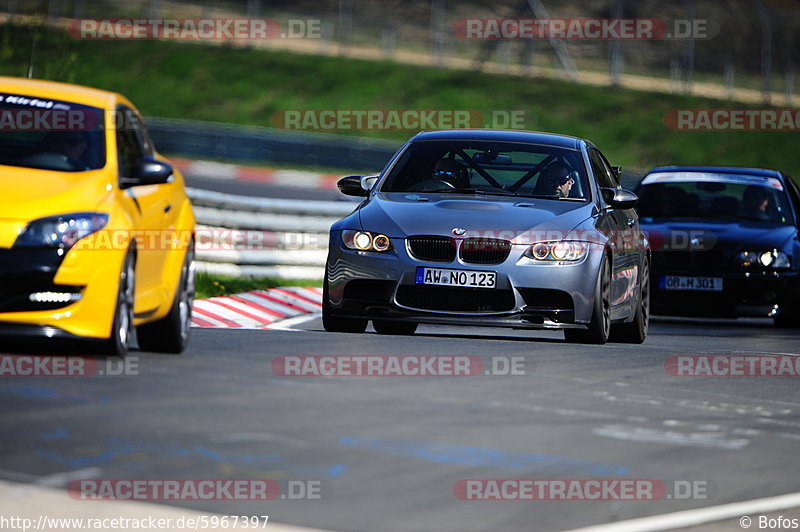
[[[253,290],[194,302],[192,327],[267,329],[322,312],[322,289],[298,286]]]

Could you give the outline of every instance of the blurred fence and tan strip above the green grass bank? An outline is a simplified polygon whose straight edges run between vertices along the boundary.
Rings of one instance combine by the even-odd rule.
[[[298,38],[251,45],[796,103],[796,0],[0,0],[3,8],[12,19],[50,23],[84,17],[270,18]],[[465,19],[490,18],[651,19],[671,38],[468,39],[457,31]],[[303,37],[312,27],[314,34]]]

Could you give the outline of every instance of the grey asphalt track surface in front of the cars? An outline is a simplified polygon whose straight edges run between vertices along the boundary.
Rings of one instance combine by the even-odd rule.
[[[798,491],[797,380],[664,367],[672,355],[778,353],[800,353],[800,335],[761,320],[657,319],[641,346],[434,326],[411,337],[334,334],[319,319],[195,329],[183,355],[134,351],[136,375],[2,379],[0,477],[318,480],[321,500],[174,505],[336,531],[566,530]],[[300,378],[270,366],[325,354],[474,355],[487,367],[514,356],[524,375]],[[699,481],[708,493],[625,502],[453,493],[461,479],[507,478]]]

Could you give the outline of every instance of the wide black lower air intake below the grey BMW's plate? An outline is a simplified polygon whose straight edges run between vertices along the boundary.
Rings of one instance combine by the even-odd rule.
[[[505,312],[514,308],[511,290],[402,285],[397,302],[405,307],[441,312]]]

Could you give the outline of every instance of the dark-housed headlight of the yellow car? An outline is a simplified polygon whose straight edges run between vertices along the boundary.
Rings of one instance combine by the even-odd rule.
[[[29,223],[17,237],[14,247],[50,247],[68,250],[81,238],[103,229],[108,215],[75,212],[40,218]]]

